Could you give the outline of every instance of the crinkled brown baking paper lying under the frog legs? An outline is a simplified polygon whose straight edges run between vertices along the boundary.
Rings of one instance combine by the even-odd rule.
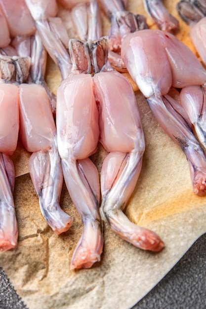
[[[128,2],[130,11],[146,14],[142,3]],[[175,16],[176,2],[165,1]],[[60,12],[64,17],[65,13]],[[109,22],[104,15],[103,20],[106,34]],[[149,17],[148,23],[155,28]],[[180,20],[177,37],[194,50],[188,31],[189,27]],[[60,81],[58,69],[48,59],[47,82],[54,92]],[[52,232],[41,216],[38,197],[27,173],[30,154],[19,146],[12,156],[16,176],[21,175],[16,177],[14,189],[19,241],[17,248],[0,254],[0,265],[29,309],[128,309],[206,232],[206,197],[193,193],[185,155],[160,128],[139,91],[136,98],[146,151],[125,213],[136,224],[157,232],[165,242],[164,250],[151,253],[137,249],[105,224],[101,262],[88,270],[70,270],[71,257],[82,233],[81,219],[64,184],[60,204],[74,217],[74,224],[61,235]],[[105,155],[99,145],[91,157],[99,173]]]

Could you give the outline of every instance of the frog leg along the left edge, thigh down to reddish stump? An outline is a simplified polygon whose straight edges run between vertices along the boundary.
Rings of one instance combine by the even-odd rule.
[[[16,85],[0,83],[0,251],[16,247],[18,238],[13,201],[15,171],[9,157],[18,140],[18,95]]]

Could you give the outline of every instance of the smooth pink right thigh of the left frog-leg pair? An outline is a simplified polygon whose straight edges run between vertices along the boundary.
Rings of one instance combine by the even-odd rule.
[[[20,134],[24,147],[32,153],[48,150],[56,128],[44,89],[35,84],[22,84],[19,86],[19,95]]]

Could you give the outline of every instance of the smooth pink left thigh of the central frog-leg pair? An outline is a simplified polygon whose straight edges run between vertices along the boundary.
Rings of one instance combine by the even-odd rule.
[[[63,159],[68,155],[84,159],[96,151],[99,129],[92,87],[91,76],[81,74],[70,75],[58,88],[59,109],[56,124],[58,149]],[[76,94],[71,97],[71,93]]]

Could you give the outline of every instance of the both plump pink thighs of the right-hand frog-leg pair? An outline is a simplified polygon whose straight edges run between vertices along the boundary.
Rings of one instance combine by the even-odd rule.
[[[160,30],[146,29],[129,34],[122,42],[121,55],[147,98],[158,91],[165,95],[171,86],[182,88],[206,81],[206,70],[189,47]]]

